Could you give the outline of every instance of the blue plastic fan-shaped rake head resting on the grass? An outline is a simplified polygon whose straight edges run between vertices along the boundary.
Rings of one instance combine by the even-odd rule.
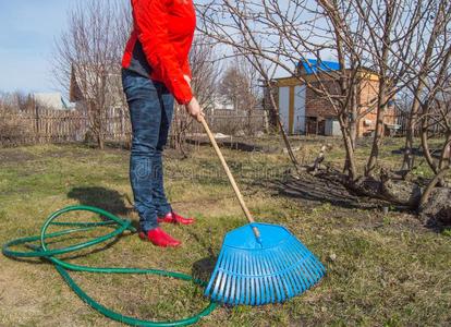
[[[260,243],[253,227],[260,231]],[[230,305],[284,302],[316,284],[325,272],[284,227],[249,223],[226,235],[205,295]]]

